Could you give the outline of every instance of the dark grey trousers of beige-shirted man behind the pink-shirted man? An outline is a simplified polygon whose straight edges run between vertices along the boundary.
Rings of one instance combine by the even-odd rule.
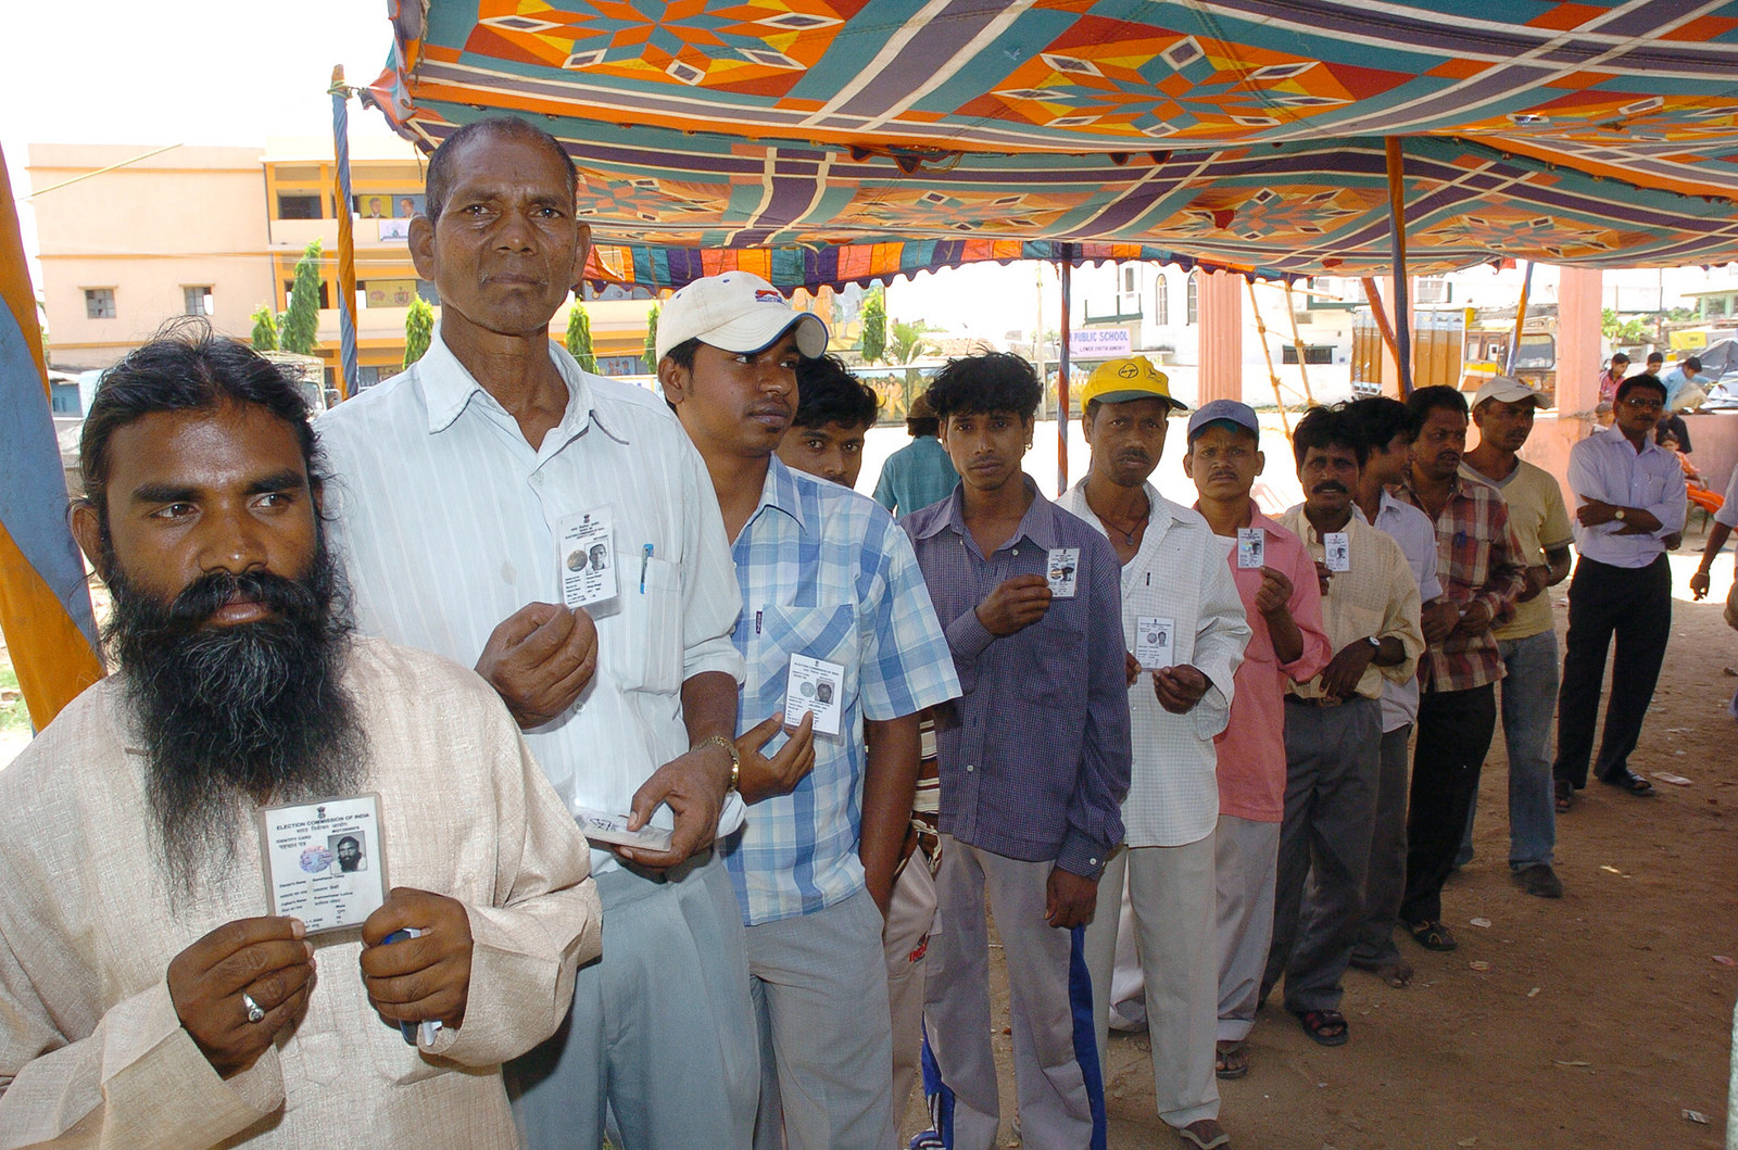
[[[1286,818],[1262,997],[1284,975],[1290,1011],[1340,1008],[1340,978],[1364,917],[1380,770],[1378,700],[1286,702]]]

